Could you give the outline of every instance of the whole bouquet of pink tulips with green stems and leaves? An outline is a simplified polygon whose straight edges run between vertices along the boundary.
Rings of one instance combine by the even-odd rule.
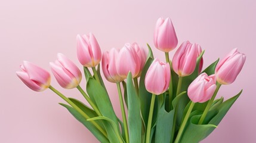
[[[137,43],[125,43],[101,55],[94,35],[77,36],[78,60],[84,66],[86,91],[79,86],[82,73],[63,54],[50,63],[55,79],[65,89],[77,88],[86,105],[68,98],[50,85],[48,71],[28,61],[17,76],[32,90],[51,89],[67,103],[60,103],[100,142],[199,142],[226,115],[238,95],[224,101],[215,99],[221,85],[233,83],[246,56],[233,49],[223,60],[202,71],[203,53],[197,43],[185,41],[169,60],[178,44],[171,19],[159,18],[154,33],[155,47],[165,52],[166,63],[153,57]],[[100,61],[101,68],[100,68]],[[116,83],[122,119],[113,110],[101,77]],[[125,108],[127,108],[127,113]]]

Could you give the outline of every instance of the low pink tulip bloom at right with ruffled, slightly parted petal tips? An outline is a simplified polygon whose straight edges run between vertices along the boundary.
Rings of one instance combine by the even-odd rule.
[[[208,101],[216,89],[215,75],[208,76],[206,73],[200,74],[196,79],[190,83],[187,89],[187,95],[192,102]]]

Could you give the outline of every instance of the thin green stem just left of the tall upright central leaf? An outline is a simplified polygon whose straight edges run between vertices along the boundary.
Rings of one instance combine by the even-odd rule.
[[[120,82],[116,83],[116,85],[118,86],[118,95],[119,95],[119,101],[120,101],[121,110],[122,110],[122,119],[124,121],[125,139],[126,139],[126,142],[128,143],[129,142],[129,134],[128,134],[127,117],[125,114],[125,106],[124,106],[124,100],[122,97]]]

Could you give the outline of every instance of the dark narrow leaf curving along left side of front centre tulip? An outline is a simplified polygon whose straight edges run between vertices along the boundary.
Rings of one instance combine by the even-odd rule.
[[[140,88],[138,89],[138,97],[140,98],[140,108],[141,108],[141,114],[144,121],[144,126],[147,125],[147,120],[149,119],[149,108],[150,108],[150,102],[152,94],[149,93],[145,87],[145,76],[147,73],[147,70],[149,69],[150,64],[152,63],[153,59],[150,57],[146,61],[146,64],[141,72],[140,76]]]

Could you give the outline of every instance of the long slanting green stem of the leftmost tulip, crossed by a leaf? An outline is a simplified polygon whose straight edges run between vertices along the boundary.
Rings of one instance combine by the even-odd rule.
[[[49,86],[49,89],[51,89],[55,94],[57,94],[59,97],[61,97],[64,101],[69,103],[78,113],[80,113],[85,119],[90,119],[91,117],[88,116],[84,111],[81,110],[76,104],[74,104],[69,98],[65,97],[63,94],[61,94],[57,89],[53,88],[53,86]],[[103,133],[104,136],[107,138],[107,133],[103,128],[101,128],[95,121],[91,121],[92,125],[94,125],[101,133]]]

